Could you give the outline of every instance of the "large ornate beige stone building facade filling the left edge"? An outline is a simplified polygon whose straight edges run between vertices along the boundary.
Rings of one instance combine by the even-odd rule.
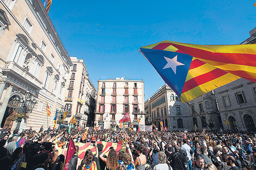
[[[40,0],[0,1],[0,121],[14,129],[8,104],[32,93],[38,103],[24,125],[53,126],[63,107],[72,62]],[[51,116],[47,117],[46,102]]]

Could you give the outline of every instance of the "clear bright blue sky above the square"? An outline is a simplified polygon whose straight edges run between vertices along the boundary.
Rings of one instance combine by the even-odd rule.
[[[140,47],[163,40],[239,44],[256,27],[254,3],[52,0],[48,14],[69,55],[84,59],[96,88],[99,78],[140,78],[147,100],[164,81]]]

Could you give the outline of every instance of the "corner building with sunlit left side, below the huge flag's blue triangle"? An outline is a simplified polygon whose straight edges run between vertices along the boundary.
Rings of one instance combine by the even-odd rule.
[[[150,97],[150,105],[151,118],[158,129],[161,127],[161,117],[163,127],[167,127],[168,130],[184,130],[191,128],[188,105],[182,103],[167,84],[163,85]]]

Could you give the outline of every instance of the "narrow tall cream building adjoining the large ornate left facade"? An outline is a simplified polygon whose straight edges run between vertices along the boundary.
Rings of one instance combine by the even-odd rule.
[[[65,108],[69,110],[65,121],[69,122],[72,116],[75,116],[77,124],[86,127],[88,116],[84,113],[86,110],[86,77],[87,68],[83,59],[71,57],[73,63],[72,69],[68,75],[65,91]]]

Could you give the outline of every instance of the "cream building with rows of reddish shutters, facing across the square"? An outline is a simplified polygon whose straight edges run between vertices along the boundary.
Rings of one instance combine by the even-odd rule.
[[[144,81],[126,78],[99,80],[95,111],[96,126],[104,129],[113,128],[119,125],[119,120],[127,112],[130,113],[135,128],[138,129],[137,118],[145,124]]]

